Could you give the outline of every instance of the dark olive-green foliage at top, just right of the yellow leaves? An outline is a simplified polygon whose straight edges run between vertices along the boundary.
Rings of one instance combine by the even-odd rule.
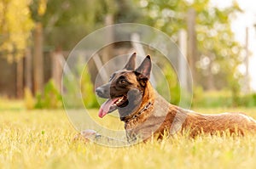
[[[100,2],[100,0],[48,1],[42,18],[44,37],[47,37],[44,45],[64,50],[73,48],[82,37],[96,29],[98,20],[102,17]]]

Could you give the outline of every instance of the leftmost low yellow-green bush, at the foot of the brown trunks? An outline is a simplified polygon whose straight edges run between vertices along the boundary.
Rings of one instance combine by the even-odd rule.
[[[62,97],[61,93],[55,87],[55,82],[50,80],[44,87],[44,93],[36,95],[36,109],[57,109],[61,108]]]

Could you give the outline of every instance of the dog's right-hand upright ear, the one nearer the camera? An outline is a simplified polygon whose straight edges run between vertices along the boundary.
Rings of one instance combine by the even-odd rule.
[[[137,68],[137,70],[134,70],[134,72],[139,80],[148,81],[150,78],[151,67],[151,59],[150,56],[148,55],[143,60],[143,63]]]

